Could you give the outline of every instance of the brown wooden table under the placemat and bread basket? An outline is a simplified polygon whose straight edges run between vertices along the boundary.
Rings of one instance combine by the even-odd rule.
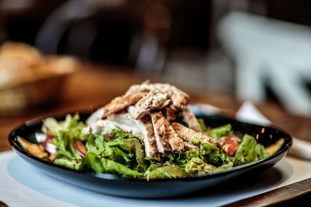
[[[39,106],[36,109],[28,109],[20,112],[18,115],[0,116],[0,151],[11,149],[7,142],[7,135],[16,125],[26,120],[51,114],[95,110],[108,103],[114,97],[124,94],[133,83],[141,83],[147,78],[150,79],[151,82],[161,82],[161,79],[137,75],[129,68],[85,64],[79,72],[66,79],[58,99],[55,100],[56,103],[49,106]],[[174,81],[172,80],[172,82]],[[217,106],[223,109],[225,115],[229,117],[233,117],[234,113],[241,105],[241,102],[235,100],[232,94],[216,94],[215,92],[207,90],[195,91],[182,83],[175,85],[190,94],[190,103],[207,103]],[[285,131],[289,132],[294,137],[311,141],[311,119],[290,115],[273,101],[267,101],[257,107],[276,126],[285,129]],[[280,194],[280,192],[275,190],[268,194],[257,196],[254,199],[255,201],[258,199],[261,200],[262,202],[260,205],[270,205],[283,200],[293,202],[292,198],[300,199],[301,201],[301,199],[305,199],[303,198],[305,196],[297,196],[301,196],[305,193],[308,193],[309,196],[311,195],[310,179],[302,186],[306,189],[299,192],[295,190],[295,188],[290,188],[293,189],[290,191],[291,196],[285,195],[283,191],[281,191]],[[288,189],[286,190],[288,192]],[[267,195],[270,198],[268,200]],[[246,203],[235,203],[232,204],[232,206],[236,204],[256,205],[252,200],[243,202]]]

